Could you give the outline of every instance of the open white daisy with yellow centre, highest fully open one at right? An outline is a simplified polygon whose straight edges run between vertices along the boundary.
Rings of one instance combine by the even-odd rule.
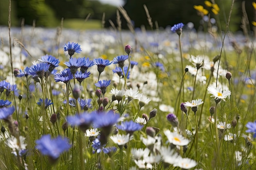
[[[216,88],[216,86],[214,86],[213,84],[208,86],[207,90],[209,91],[208,94],[212,94],[211,97],[214,97],[215,100],[222,99],[226,101],[225,98],[231,95],[231,91],[229,90],[223,91],[222,88],[218,88],[218,87]]]

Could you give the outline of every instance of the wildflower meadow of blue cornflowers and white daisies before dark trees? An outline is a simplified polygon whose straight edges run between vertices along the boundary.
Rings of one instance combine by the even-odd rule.
[[[194,8],[204,32],[0,27],[0,170],[256,170],[255,32]]]

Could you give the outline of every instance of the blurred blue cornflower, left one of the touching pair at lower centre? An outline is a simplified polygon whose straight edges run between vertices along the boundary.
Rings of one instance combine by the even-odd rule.
[[[81,114],[76,114],[76,115],[70,115],[67,117],[67,122],[71,126],[79,126],[81,130],[84,132],[91,126],[92,122],[94,121],[94,116],[95,114],[93,113],[81,113]]]

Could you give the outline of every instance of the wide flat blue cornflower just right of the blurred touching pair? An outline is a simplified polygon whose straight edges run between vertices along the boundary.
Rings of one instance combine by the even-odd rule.
[[[117,128],[119,130],[126,131],[126,134],[130,134],[130,136],[131,136],[133,134],[133,132],[135,132],[137,130],[141,130],[141,128],[143,128],[143,125],[130,120],[130,121],[122,122],[121,125],[117,125]]]

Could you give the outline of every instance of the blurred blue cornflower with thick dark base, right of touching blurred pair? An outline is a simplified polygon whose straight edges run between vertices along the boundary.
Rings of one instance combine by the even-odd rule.
[[[112,126],[119,121],[120,115],[115,114],[113,110],[110,110],[107,113],[94,111],[92,114],[95,116],[93,121],[95,128],[101,128],[101,137],[99,140],[101,141],[101,144],[106,144]]]

